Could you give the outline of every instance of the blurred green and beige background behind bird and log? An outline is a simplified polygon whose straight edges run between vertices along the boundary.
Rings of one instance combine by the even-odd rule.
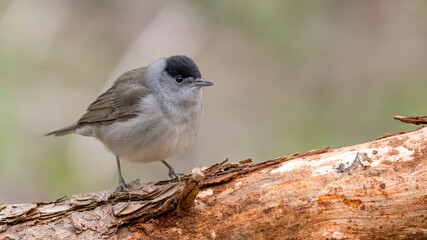
[[[43,134],[170,55],[215,83],[197,142],[169,159],[179,172],[412,130],[393,116],[426,114],[426,23],[425,1],[0,1],[0,202],[115,188],[97,140]],[[168,178],[158,162],[122,171]]]

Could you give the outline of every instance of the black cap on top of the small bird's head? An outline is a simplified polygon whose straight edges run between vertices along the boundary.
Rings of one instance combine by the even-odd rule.
[[[184,78],[201,78],[199,68],[194,61],[187,56],[172,56],[166,59],[166,72],[172,77],[181,75]]]

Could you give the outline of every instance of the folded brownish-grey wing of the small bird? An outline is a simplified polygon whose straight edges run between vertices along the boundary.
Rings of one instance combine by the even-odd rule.
[[[138,68],[121,75],[110,89],[89,105],[77,125],[104,124],[135,117],[139,111],[139,99],[149,94],[143,84],[145,69]]]

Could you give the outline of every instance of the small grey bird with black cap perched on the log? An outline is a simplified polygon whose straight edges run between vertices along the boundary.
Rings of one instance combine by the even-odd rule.
[[[169,176],[180,181],[165,159],[195,141],[202,122],[202,88],[212,85],[191,58],[161,58],[122,74],[77,122],[46,136],[76,133],[101,141],[116,155],[119,191],[128,191],[121,157],[133,162],[161,161]]]

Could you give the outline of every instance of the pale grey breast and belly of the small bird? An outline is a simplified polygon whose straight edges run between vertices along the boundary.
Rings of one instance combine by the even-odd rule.
[[[164,160],[195,141],[202,120],[201,104],[162,106],[145,99],[140,108],[137,117],[104,126],[99,139],[116,155],[134,162]]]

